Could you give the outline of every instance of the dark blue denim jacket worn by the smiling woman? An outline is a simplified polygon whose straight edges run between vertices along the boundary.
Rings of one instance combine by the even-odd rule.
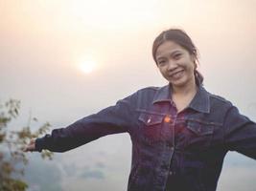
[[[256,124],[231,102],[198,87],[177,113],[172,88],[149,87],[98,114],[37,138],[37,151],[64,152],[109,134],[132,141],[128,191],[214,191],[228,151],[256,159]]]

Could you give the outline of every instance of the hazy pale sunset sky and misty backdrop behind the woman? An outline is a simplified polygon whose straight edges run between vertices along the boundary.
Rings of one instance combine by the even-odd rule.
[[[138,89],[166,85],[151,45],[163,30],[180,28],[198,47],[205,88],[256,120],[255,8],[255,0],[0,0],[0,101],[21,101],[15,128],[30,114],[52,129],[65,127]],[[32,190],[51,180],[58,186],[49,190],[127,186],[128,135],[100,138],[53,161],[28,156]],[[229,154],[218,190],[254,190],[255,169],[252,159]],[[54,178],[35,180],[52,171]]]

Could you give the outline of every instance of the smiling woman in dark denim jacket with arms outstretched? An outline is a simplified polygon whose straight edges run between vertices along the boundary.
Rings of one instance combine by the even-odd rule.
[[[98,57],[90,55],[79,62],[85,73],[93,71],[91,58]],[[186,32],[158,34],[152,56],[167,85],[143,88],[66,128],[32,139],[25,151],[65,152],[128,133],[128,191],[216,191],[228,151],[256,159],[256,123],[230,101],[206,91],[197,71],[197,47]]]

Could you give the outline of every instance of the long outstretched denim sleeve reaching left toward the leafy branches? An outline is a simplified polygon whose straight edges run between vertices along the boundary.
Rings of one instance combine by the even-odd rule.
[[[97,114],[83,117],[66,128],[54,129],[51,135],[35,139],[35,150],[65,152],[106,135],[128,132],[135,101],[136,93]]]

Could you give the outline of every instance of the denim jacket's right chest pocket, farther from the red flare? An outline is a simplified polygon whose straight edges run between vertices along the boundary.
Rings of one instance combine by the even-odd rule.
[[[188,120],[185,128],[186,149],[204,149],[210,146],[216,125],[212,122]]]

